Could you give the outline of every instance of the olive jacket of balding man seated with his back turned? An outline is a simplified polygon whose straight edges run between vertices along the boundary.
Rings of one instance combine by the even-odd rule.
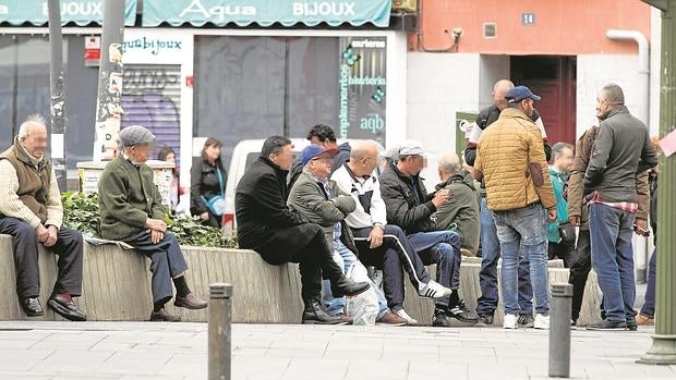
[[[474,179],[461,170],[436,185],[448,189],[450,197],[436,211],[436,229],[454,230],[462,235],[462,248],[476,255],[479,248],[479,201]]]

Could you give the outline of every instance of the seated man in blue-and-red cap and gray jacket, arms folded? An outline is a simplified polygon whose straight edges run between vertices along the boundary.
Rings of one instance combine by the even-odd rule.
[[[357,205],[352,196],[343,193],[335,181],[328,179],[331,173],[334,157],[338,154],[335,148],[327,149],[321,145],[310,145],[301,152],[303,171],[298,176],[291,192],[288,205],[297,210],[310,222],[322,225],[329,249],[334,252],[334,259],[349,275],[358,266],[357,247],[350,228],[345,218],[354,211]],[[363,268],[365,271],[365,268]],[[345,297],[334,298],[328,281],[324,281],[324,303],[331,315],[345,314]],[[378,299],[378,315],[381,323],[406,324],[406,319],[397,316],[387,307],[383,292],[371,283],[370,292],[375,292]]]

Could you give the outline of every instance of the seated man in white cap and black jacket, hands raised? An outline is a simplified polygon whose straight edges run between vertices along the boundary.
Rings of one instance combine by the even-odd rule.
[[[462,237],[452,231],[436,231],[433,219],[437,208],[448,201],[448,191],[427,195],[420,171],[425,166],[422,144],[401,144],[399,160],[381,176],[381,191],[387,209],[387,222],[399,225],[425,265],[436,263],[436,280],[452,292],[436,301],[432,326],[449,327],[448,317],[474,324],[476,315],[460,299],[460,244]]]

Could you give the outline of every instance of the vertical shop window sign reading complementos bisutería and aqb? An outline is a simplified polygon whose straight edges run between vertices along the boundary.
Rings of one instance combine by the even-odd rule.
[[[386,37],[340,38],[340,138],[385,142]]]

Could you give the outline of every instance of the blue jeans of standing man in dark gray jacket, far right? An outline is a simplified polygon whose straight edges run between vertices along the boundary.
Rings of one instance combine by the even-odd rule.
[[[636,317],[633,302],[632,226],[636,214],[606,205],[589,205],[592,267],[603,292],[605,318],[619,322]]]

